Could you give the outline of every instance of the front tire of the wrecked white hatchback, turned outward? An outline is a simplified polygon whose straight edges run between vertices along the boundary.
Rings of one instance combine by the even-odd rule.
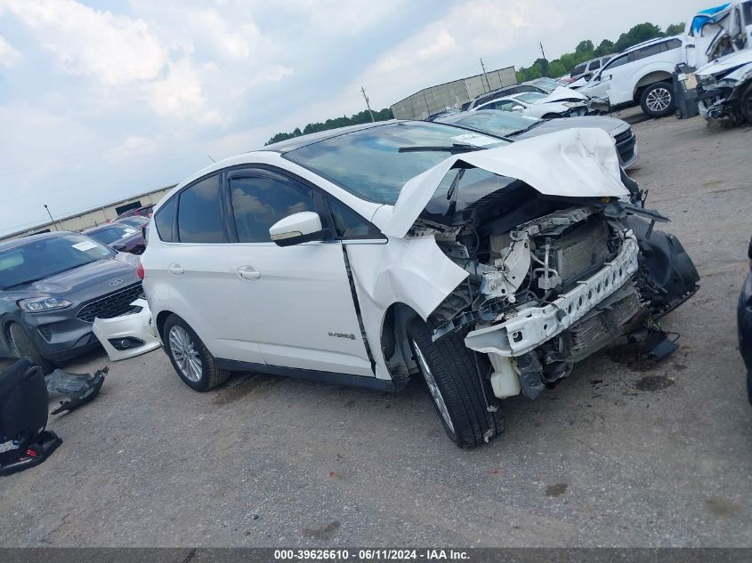
[[[433,342],[420,318],[407,326],[413,358],[433,398],[433,406],[447,436],[457,446],[471,448],[504,432],[504,415],[485,373],[489,361],[465,347],[465,333],[450,333]],[[485,394],[485,398],[484,398]],[[486,405],[489,402],[491,411]]]

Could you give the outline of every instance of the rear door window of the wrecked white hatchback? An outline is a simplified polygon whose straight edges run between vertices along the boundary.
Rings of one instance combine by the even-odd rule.
[[[182,243],[226,243],[220,211],[219,175],[182,190],[178,205],[178,236]]]

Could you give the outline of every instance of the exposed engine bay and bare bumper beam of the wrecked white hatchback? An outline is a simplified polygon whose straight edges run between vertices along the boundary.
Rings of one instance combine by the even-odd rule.
[[[479,182],[499,182],[493,176]],[[452,226],[430,221],[430,213],[416,222],[413,234],[432,230],[468,273],[428,319],[434,342],[466,334],[469,349],[489,355],[498,398],[521,390],[536,398],[574,363],[654,326],[699,288],[679,241],[653,229],[667,219],[645,210],[643,192],[626,175],[623,181],[631,201],[547,197],[501,181],[503,189],[465,208],[461,219],[455,214]]]

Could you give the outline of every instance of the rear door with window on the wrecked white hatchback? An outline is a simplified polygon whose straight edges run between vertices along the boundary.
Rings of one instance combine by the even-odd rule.
[[[229,243],[219,173],[178,195],[177,241],[168,246],[166,271],[170,309],[196,331],[216,358],[263,363],[257,338],[239,300],[239,278]]]

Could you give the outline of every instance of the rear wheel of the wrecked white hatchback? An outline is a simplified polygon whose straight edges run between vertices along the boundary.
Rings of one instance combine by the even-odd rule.
[[[196,331],[177,315],[170,315],[165,321],[162,340],[175,372],[190,389],[213,390],[230,377],[228,370],[215,366],[214,356]]]

